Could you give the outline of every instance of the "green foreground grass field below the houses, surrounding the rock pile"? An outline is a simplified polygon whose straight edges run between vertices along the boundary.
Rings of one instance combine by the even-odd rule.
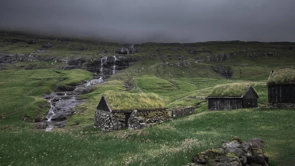
[[[181,166],[238,135],[260,137],[270,166],[294,166],[294,109],[208,112],[140,131],[99,132],[93,125],[42,132],[1,127],[1,166]]]

